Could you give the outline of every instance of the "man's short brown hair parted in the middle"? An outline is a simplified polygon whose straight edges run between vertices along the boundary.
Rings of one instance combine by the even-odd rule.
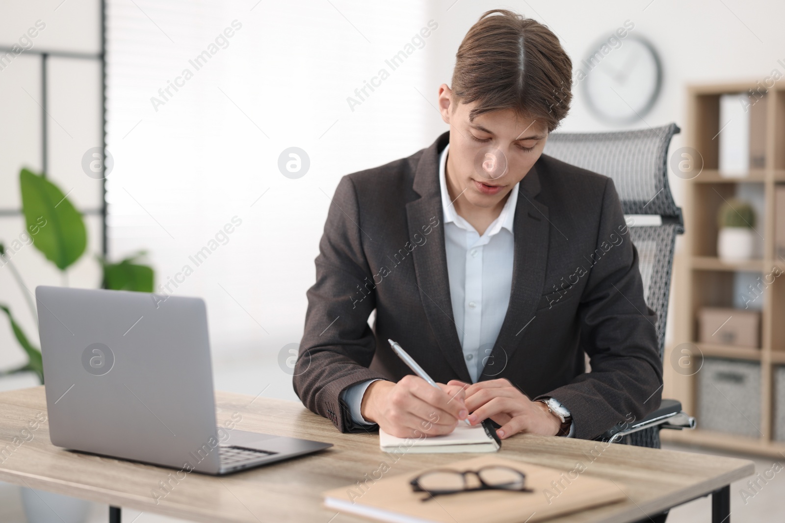
[[[559,38],[545,25],[507,9],[480,16],[455,53],[455,101],[478,102],[470,120],[513,109],[546,123],[550,133],[570,110],[571,87],[572,60]]]

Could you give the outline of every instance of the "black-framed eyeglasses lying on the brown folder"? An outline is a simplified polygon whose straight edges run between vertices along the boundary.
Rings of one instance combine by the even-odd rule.
[[[420,474],[410,482],[414,492],[425,492],[433,496],[444,496],[458,492],[477,490],[509,490],[513,492],[534,492],[526,488],[526,474],[511,467],[489,465],[477,470],[436,469]]]

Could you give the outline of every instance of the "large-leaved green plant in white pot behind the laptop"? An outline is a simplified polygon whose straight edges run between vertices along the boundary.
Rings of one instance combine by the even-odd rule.
[[[0,267],[9,267],[24,296],[31,317],[38,325],[38,314],[32,294],[35,292],[35,287],[27,285],[20,272],[16,270],[14,255],[27,245],[35,246],[35,249],[42,252],[46,259],[60,270],[63,285],[68,285],[68,268],[84,254],[87,246],[87,230],[82,220],[82,213],[75,209],[68,200],[67,194],[60,191],[60,187],[46,180],[43,175],[32,173],[28,169],[22,169],[19,177],[26,229],[23,234],[20,234],[19,239],[0,242]],[[139,252],[119,263],[109,263],[108,260],[99,257],[97,263],[103,271],[101,281],[103,288],[152,292],[154,276],[152,268],[137,263],[137,259],[142,255],[144,252]],[[2,376],[31,372],[43,384],[41,350],[31,342],[8,305],[0,303],[0,311],[8,318],[16,341],[27,354],[27,362],[24,365],[16,369],[0,371],[0,379]],[[83,499],[31,488],[22,488],[22,504],[27,514],[27,521],[30,523],[49,521],[80,523],[86,521],[90,507],[89,502]]]

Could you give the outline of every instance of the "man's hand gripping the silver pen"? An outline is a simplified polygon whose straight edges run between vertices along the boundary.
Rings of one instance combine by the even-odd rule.
[[[411,374],[398,383],[374,381],[363,394],[360,413],[398,438],[450,434],[469,415],[465,386],[438,385],[441,390]]]

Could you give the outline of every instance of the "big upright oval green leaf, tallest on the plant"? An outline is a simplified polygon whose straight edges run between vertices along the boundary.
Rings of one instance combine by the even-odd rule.
[[[87,246],[82,214],[57,185],[43,176],[22,169],[19,184],[24,219],[33,245],[64,271],[79,260]]]

